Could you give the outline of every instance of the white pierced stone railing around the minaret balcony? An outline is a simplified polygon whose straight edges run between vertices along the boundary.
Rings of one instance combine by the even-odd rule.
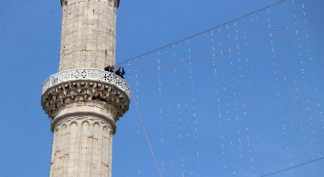
[[[130,96],[130,87],[125,79],[115,75],[114,73],[99,70],[99,69],[73,69],[68,71],[62,71],[51,75],[44,83],[42,87],[42,95],[52,86],[75,80],[93,80],[108,82],[116,85],[120,90],[124,91]]]

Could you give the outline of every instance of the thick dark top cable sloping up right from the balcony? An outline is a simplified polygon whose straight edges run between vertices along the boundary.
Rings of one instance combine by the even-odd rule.
[[[185,43],[185,42],[188,41],[188,40],[191,40],[191,39],[197,38],[197,37],[199,37],[199,36],[204,36],[204,35],[210,33],[210,31],[212,31],[212,30],[217,30],[217,29],[219,29],[219,28],[221,28],[221,27],[224,27],[224,26],[226,26],[226,25],[228,25],[228,24],[230,24],[230,23],[233,23],[233,22],[235,22],[235,21],[240,21],[240,20],[242,20],[243,18],[246,18],[246,17],[253,17],[253,16],[255,16],[255,15],[260,14],[262,11],[265,11],[265,10],[267,10],[267,9],[273,8],[273,7],[276,6],[276,5],[283,4],[283,3],[286,2],[286,1],[287,1],[287,0],[279,1],[279,2],[277,2],[277,3],[274,3],[274,4],[270,5],[270,6],[265,7],[265,8],[259,9],[259,10],[255,11],[255,12],[252,12],[252,13],[247,14],[247,15],[245,15],[245,16],[242,16],[242,17],[236,18],[236,19],[234,19],[234,20],[231,20],[231,21],[226,22],[226,23],[224,23],[224,24],[218,25],[218,26],[213,27],[213,28],[211,28],[211,29],[208,29],[208,30],[206,30],[206,31],[203,31],[203,32],[197,33],[197,34],[192,35],[192,36],[190,36],[190,37],[187,37],[187,38],[185,38],[185,39],[182,39],[182,40],[179,40],[179,41],[173,42],[173,43],[171,43],[170,45],[167,45],[167,46],[164,46],[164,47],[158,48],[158,49],[156,49],[156,50],[153,50],[153,51],[147,52],[147,53],[145,53],[145,54],[139,55],[139,56],[137,56],[137,57],[134,57],[134,58],[131,58],[131,59],[125,60],[125,61],[123,61],[123,62],[120,62],[120,63],[116,64],[116,66],[124,66],[127,62],[132,61],[132,60],[135,60],[136,58],[140,58],[140,57],[147,56],[147,55],[152,55],[153,53],[157,53],[157,51],[164,50],[164,49],[169,49],[169,48],[172,48],[173,46],[179,46],[180,43]]]

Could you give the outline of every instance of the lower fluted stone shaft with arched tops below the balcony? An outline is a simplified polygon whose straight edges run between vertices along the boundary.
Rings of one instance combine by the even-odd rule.
[[[112,127],[95,116],[56,123],[50,176],[111,176]]]

